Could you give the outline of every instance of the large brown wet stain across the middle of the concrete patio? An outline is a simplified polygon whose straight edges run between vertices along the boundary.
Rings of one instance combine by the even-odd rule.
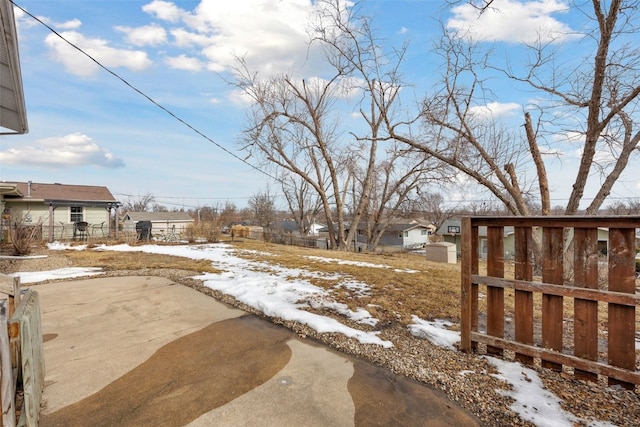
[[[40,425],[183,426],[276,375],[291,358],[291,336],[255,316],[213,323],[165,345],[92,396],[42,415]]]

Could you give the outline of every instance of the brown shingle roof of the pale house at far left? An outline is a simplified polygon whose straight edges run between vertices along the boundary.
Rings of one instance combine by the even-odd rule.
[[[107,187],[95,185],[42,184],[32,182],[12,182],[22,197],[5,195],[12,200],[64,200],[79,202],[116,202]]]

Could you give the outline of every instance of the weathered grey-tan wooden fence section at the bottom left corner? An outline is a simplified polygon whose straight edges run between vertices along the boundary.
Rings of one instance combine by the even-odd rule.
[[[20,290],[20,279],[0,274],[0,403],[3,426],[37,426],[44,390],[44,349],[38,293]],[[16,392],[23,390],[22,408]],[[21,409],[16,419],[17,409]]]

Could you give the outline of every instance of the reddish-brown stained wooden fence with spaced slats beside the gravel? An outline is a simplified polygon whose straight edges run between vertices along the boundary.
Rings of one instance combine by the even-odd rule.
[[[509,350],[525,364],[572,368],[576,378],[640,385],[636,228],[640,217],[464,218],[461,349],[482,343],[487,353]],[[608,230],[606,251],[599,229]]]

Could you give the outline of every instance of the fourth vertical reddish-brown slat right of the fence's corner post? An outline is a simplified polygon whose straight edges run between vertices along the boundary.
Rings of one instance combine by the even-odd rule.
[[[574,228],[574,286],[598,289],[598,229]],[[598,302],[576,298],[573,312],[574,354],[598,360]],[[596,381],[596,374],[576,369],[578,379]]]

